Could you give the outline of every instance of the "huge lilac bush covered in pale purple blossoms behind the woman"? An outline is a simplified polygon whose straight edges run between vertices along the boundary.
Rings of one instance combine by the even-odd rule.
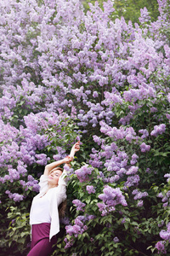
[[[170,198],[170,3],[158,3],[156,21],[144,8],[133,26],[112,19],[111,1],[89,3],[87,13],[78,0],[1,1],[2,233],[11,207],[29,212],[47,162],[81,139],[56,253],[169,253],[161,230]]]

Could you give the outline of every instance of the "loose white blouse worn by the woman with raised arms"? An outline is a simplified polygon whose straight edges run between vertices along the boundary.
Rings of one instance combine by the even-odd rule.
[[[52,189],[48,189],[48,176],[42,175],[39,183],[39,194],[33,198],[31,204],[30,224],[50,223],[49,241],[59,233],[58,207],[66,199],[67,180],[65,175],[66,172],[64,171],[59,177],[58,186]]]

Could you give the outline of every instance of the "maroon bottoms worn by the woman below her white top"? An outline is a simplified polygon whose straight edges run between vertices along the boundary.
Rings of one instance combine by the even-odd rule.
[[[33,224],[31,230],[31,251],[27,256],[49,256],[53,253],[53,245],[57,238],[52,237],[49,241],[49,223]]]

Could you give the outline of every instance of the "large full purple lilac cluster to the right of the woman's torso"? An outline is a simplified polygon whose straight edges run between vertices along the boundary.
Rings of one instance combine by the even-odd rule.
[[[122,191],[119,188],[113,189],[109,185],[105,186],[103,189],[104,194],[99,195],[99,199],[103,203],[98,203],[99,212],[102,212],[102,216],[109,214],[109,212],[114,212],[116,210],[116,205],[121,204],[123,207],[127,207],[127,201],[125,200]]]

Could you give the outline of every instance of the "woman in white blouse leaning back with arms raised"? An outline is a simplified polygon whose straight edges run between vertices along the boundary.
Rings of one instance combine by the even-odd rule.
[[[80,142],[71,148],[71,154],[63,160],[47,166],[40,177],[40,192],[31,204],[31,251],[27,256],[48,256],[57,242],[59,232],[59,205],[66,199],[66,172],[59,165],[70,166],[75,153],[80,149]]]

